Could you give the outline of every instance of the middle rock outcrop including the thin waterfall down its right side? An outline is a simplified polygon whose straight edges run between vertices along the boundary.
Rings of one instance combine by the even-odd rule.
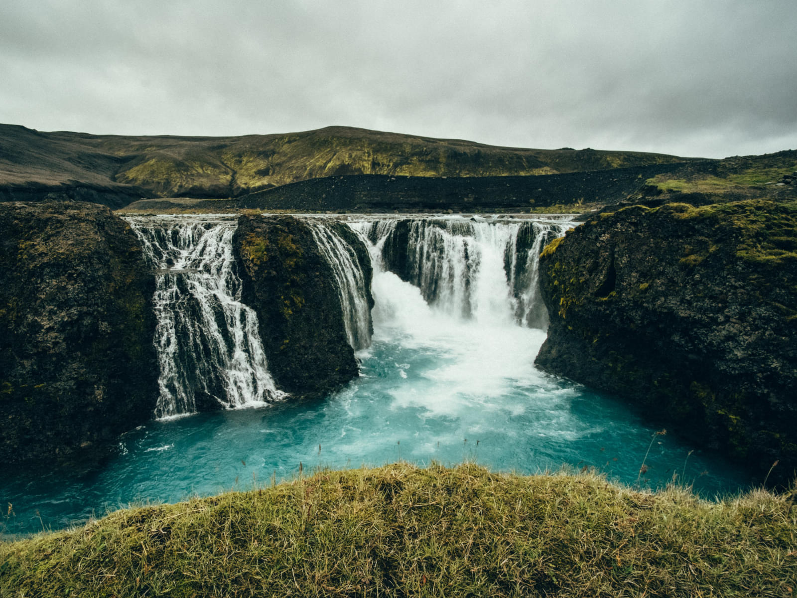
[[[373,306],[371,262],[355,232],[332,219],[241,216],[233,244],[277,386],[319,396],[355,378]]]

